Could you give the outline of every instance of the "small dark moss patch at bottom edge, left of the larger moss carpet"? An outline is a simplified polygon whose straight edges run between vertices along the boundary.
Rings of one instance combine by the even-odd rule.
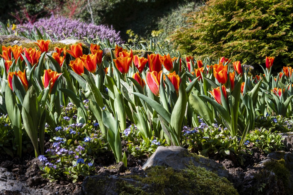
[[[141,187],[135,187],[134,185],[127,183],[125,180],[116,182],[116,192],[120,195],[147,195],[148,193],[143,191]]]

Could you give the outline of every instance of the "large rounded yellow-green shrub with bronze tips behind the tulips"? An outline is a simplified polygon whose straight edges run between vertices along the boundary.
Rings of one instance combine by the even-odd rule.
[[[173,36],[176,47],[199,58],[233,57],[242,64],[265,63],[274,69],[292,64],[291,0],[210,0],[189,14],[191,25]]]

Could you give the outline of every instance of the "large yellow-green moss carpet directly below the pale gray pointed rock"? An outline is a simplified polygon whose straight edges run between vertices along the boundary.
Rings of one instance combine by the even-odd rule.
[[[188,169],[174,170],[173,168],[156,166],[149,167],[146,177],[138,175],[123,176],[149,184],[151,190],[149,194],[238,194],[233,185],[217,174],[207,171],[205,168],[189,166]]]

